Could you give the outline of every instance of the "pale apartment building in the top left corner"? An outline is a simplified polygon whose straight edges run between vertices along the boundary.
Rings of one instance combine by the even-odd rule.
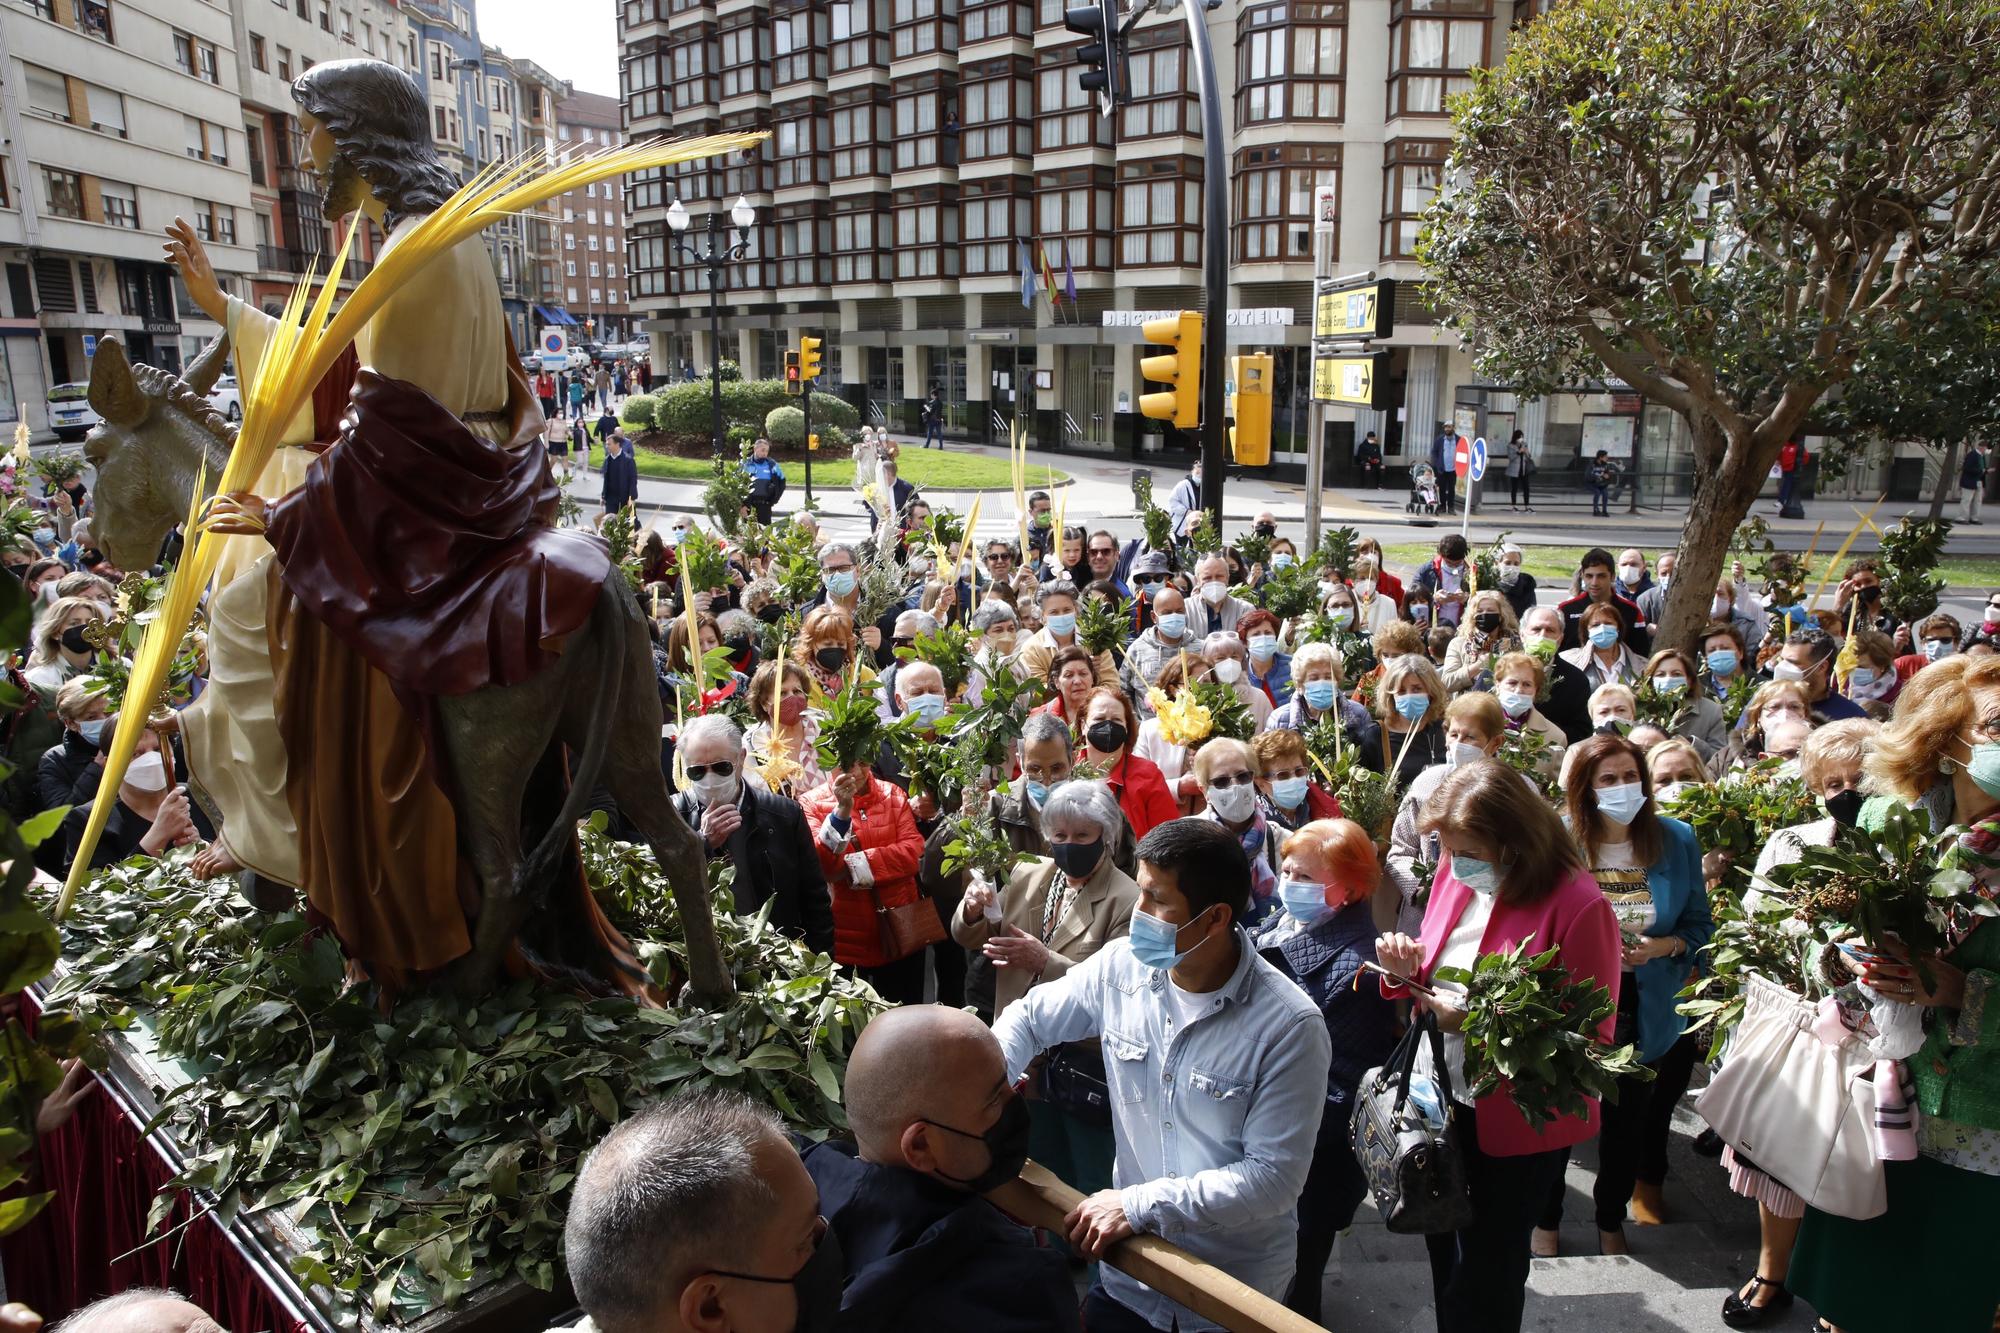
[[[48,388],[88,374],[86,338],[180,366],[218,332],[160,246],[184,216],[224,282],[254,268],[240,106],[226,8],[0,4],[0,424],[44,428]]]

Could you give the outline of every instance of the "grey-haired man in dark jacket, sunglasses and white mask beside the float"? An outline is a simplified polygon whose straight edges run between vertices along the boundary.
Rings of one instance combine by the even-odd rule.
[[[770,899],[770,925],[834,951],[834,909],[812,831],[796,801],[744,783],[744,735],[710,713],[680,729],[674,811],[702,839],[710,861],[736,867],[736,911],[756,915]]]

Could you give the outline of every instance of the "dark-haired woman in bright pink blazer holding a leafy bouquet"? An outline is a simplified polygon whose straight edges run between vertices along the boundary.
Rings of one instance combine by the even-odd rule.
[[[1506,765],[1486,759],[1454,771],[1424,807],[1422,831],[1436,833],[1444,857],[1424,907],[1420,939],[1384,935],[1382,967],[1422,983],[1438,967],[1470,969],[1482,953],[1532,941],[1530,953],[1560,945],[1558,963],[1618,997],[1618,921],[1576,853],[1576,841]],[[1384,995],[1406,995],[1384,983]],[[1592,1099],[1584,1115],[1560,1115],[1532,1129],[1506,1085],[1466,1105],[1460,987],[1438,985],[1418,1005],[1438,1015],[1456,1121],[1472,1187],[1472,1225],[1426,1237],[1438,1333],[1518,1333],[1528,1285],[1528,1239],[1540,1203],[1562,1181],[1570,1145],[1598,1133]],[[1598,1029],[1610,1041],[1612,1019]],[[1430,1065],[1428,1051],[1418,1061]]]

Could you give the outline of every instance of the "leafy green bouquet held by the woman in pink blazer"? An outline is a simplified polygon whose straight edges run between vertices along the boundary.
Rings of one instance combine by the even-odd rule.
[[[1618,1101],[1618,1079],[1650,1083],[1654,1073],[1630,1045],[1598,1041],[1598,1025],[1618,1001],[1596,981],[1558,967],[1560,945],[1528,953],[1528,941],[1484,953],[1468,971],[1440,967],[1438,981],[1466,987],[1468,1099],[1506,1083],[1508,1097],[1540,1129],[1558,1115],[1586,1115],[1590,1099]]]

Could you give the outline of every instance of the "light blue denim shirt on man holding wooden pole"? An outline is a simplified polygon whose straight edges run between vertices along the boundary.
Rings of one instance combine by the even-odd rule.
[[[1118,939],[1014,1001],[994,1035],[1010,1079],[1050,1047],[1098,1037],[1126,1221],[1282,1301],[1332,1047],[1312,999],[1242,929],[1234,941],[1236,971],[1184,1029],[1166,973]],[[1102,1281],[1156,1329],[1220,1327],[1108,1265]]]

